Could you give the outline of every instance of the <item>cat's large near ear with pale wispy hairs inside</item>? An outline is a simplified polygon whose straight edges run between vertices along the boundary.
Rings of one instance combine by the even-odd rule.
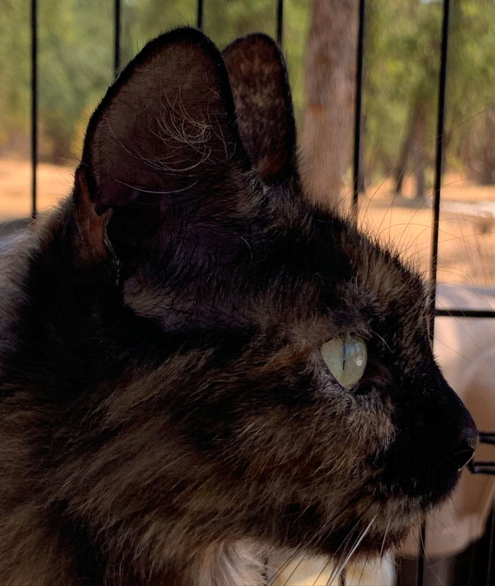
[[[232,195],[250,168],[219,50],[195,29],[149,42],[107,91],[83,149],[97,214]]]

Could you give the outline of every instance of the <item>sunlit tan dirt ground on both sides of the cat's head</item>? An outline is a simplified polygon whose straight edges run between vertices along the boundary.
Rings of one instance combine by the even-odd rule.
[[[73,166],[40,163],[37,207],[43,213],[70,193]],[[29,161],[0,159],[0,222],[30,215]],[[428,275],[431,247],[431,197],[418,206],[409,199],[414,183],[405,183],[404,197],[393,197],[390,179],[371,185],[361,197],[360,225],[401,251],[404,258]],[[344,197],[349,190],[344,190]],[[442,202],[495,202],[495,187],[474,185],[448,173]],[[495,220],[441,210],[438,280],[495,287]]]

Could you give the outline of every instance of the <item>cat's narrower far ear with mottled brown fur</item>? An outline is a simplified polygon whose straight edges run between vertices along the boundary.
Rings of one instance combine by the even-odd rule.
[[[262,33],[223,51],[238,127],[258,175],[268,185],[296,176],[296,128],[284,57]]]

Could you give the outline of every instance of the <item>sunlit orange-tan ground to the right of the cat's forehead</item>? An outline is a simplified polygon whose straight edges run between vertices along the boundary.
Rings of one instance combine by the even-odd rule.
[[[394,197],[391,180],[371,186],[361,199],[360,225],[392,243],[426,276],[431,258],[432,196],[430,190],[425,205],[417,205],[413,193],[410,179],[404,197]],[[494,230],[495,186],[476,185],[447,173],[441,197],[438,281],[494,287]]]

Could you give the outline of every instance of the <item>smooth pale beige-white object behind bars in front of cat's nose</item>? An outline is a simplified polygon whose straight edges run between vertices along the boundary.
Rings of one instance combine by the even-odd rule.
[[[495,310],[495,291],[440,284],[436,305]],[[495,431],[495,318],[436,318],[434,351],[443,376],[478,429]],[[495,460],[495,446],[480,446],[475,459]],[[494,488],[494,476],[473,475],[465,469],[452,498],[426,521],[426,555],[452,555],[479,539]],[[405,544],[404,553],[417,553],[415,543],[417,536]]]

